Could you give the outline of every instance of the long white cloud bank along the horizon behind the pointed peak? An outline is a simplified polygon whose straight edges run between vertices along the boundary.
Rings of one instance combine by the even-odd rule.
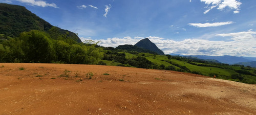
[[[217,34],[216,37],[223,37],[223,40],[212,41],[200,38],[184,39],[174,41],[161,37],[149,36],[159,49],[165,54],[177,53],[182,55],[211,55],[211,56],[256,56],[256,31],[248,30],[238,33]],[[135,44],[145,37],[123,37],[99,39],[99,45],[103,47],[117,47],[123,44]],[[91,38],[82,38],[83,40]]]

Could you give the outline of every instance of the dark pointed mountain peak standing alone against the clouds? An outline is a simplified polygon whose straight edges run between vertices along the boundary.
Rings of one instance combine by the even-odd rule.
[[[140,40],[135,44],[135,46],[146,49],[146,50],[150,50],[152,52],[156,52],[157,54],[160,54],[160,55],[164,55],[163,51],[157,48],[157,45],[151,42],[150,39],[148,38]]]

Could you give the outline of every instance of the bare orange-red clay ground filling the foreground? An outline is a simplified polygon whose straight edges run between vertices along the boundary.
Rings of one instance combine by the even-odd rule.
[[[0,114],[256,114],[256,86],[131,67],[0,63]]]

